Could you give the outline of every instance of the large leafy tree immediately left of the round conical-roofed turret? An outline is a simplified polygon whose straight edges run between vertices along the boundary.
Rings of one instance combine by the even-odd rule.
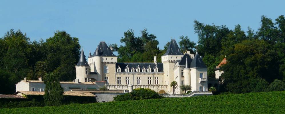
[[[78,38],[71,37],[65,31],[57,31],[43,44],[46,50],[47,72],[57,70],[59,80],[71,81],[75,79],[75,65],[79,60],[80,45]]]

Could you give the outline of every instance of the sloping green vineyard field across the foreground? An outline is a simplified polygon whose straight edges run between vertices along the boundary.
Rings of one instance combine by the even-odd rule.
[[[1,109],[0,113],[285,113],[285,91],[165,98],[52,107]]]

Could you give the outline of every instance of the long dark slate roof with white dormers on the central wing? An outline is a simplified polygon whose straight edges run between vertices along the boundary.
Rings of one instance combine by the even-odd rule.
[[[142,72],[142,68],[148,68],[148,66],[150,66],[150,68],[152,69],[152,72],[154,72],[154,67],[157,66],[158,68],[158,72],[163,72],[163,63],[157,63],[154,64],[154,63],[116,63],[116,69],[118,68],[118,66],[120,66],[121,68],[121,72],[125,72],[125,68],[128,66],[129,67],[129,70],[132,68],[132,67],[137,67],[139,66],[140,68],[140,72]],[[117,70],[116,70],[117,72]]]

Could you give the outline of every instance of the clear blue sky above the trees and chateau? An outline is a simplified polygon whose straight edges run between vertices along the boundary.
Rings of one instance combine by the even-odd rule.
[[[10,29],[26,32],[31,40],[46,39],[53,31],[65,30],[72,37],[78,37],[85,54],[93,53],[99,42],[121,44],[123,32],[129,28],[140,35],[148,29],[155,34],[163,48],[170,37],[189,36],[197,42],[194,33],[194,19],[215,25],[226,25],[233,29],[240,24],[244,31],[250,26],[260,27],[260,16],[274,20],[285,15],[285,1],[264,0],[209,0],[209,1],[167,1],[167,0],[3,0],[0,3],[0,37]]]

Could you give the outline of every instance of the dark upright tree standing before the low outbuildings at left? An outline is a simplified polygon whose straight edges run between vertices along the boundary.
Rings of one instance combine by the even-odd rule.
[[[47,74],[44,78],[45,94],[43,95],[46,106],[60,105],[63,100],[64,89],[59,83],[59,73]]]

